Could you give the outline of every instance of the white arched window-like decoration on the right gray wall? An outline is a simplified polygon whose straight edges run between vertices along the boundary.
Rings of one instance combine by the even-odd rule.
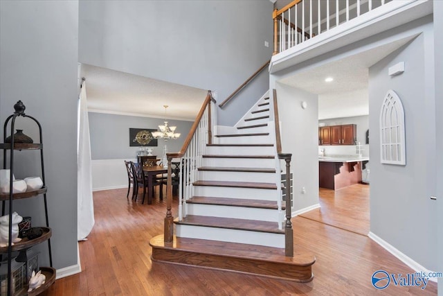
[[[389,89],[380,110],[380,159],[382,164],[406,165],[404,109],[399,96]]]

